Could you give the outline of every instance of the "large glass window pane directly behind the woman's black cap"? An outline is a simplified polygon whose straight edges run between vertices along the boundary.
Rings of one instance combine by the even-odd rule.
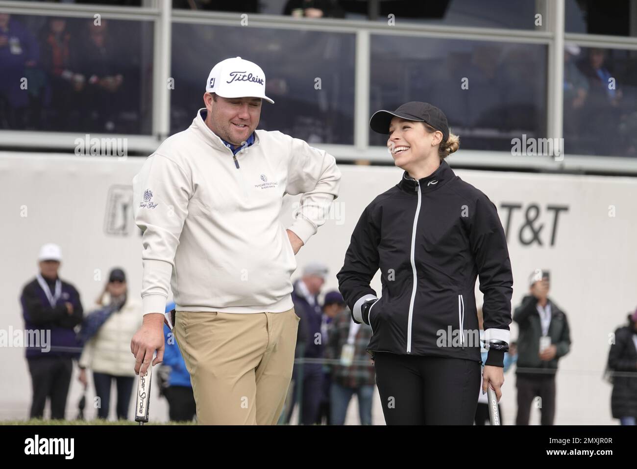
[[[369,100],[370,114],[430,102],[461,148],[510,151],[522,134],[546,137],[547,46],[373,35]],[[386,142],[370,131],[371,145]]]

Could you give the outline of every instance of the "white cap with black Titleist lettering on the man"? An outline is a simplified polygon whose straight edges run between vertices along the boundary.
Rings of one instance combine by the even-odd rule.
[[[263,98],[275,103],[266,96],[266,74],[261,67],[241,57],[225,59],[215,65],[208,75],[206,91],[224,98]]]

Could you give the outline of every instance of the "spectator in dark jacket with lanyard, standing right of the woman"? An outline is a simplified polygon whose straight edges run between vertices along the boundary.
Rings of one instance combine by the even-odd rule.
[[[516,425],[528,425],[531,403],[541,401],[541,424],[555,418],[555,373],[557,362],[571,349],[571,336],[562,311],[548,298],[548,271],[536,271],[529,278],[531,294],[515,308],[513,320],[519,326],[516,386]]]

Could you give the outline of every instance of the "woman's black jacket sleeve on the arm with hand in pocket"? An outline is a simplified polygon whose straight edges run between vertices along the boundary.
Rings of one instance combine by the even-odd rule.
[[[366,296],[369,300],[377,298],[376,291],[369,283],[378,271],[380,229],[373,223],[370,212],[370,207],[362,212],[345,253],[345,264],[336,274],[338,289],[352,311],[352,319],[356,324],[361,324],[361,304],[357,305],[357,302]]]

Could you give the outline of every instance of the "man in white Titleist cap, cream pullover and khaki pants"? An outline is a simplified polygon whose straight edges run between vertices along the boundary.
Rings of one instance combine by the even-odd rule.
[[[336,160],[303,140],[256,130],[266,77],[235,57],[213,67],[205,107],[133,180],[143,230],[143,325],[135,371],[162,361],[172,288],[175,337],[200,424],[275,424],[289,387],[297,322],[290,276],[338,195]],[[294,223],[285,194],[302,194]],[[153,360],[153,354],[157,357]]]

